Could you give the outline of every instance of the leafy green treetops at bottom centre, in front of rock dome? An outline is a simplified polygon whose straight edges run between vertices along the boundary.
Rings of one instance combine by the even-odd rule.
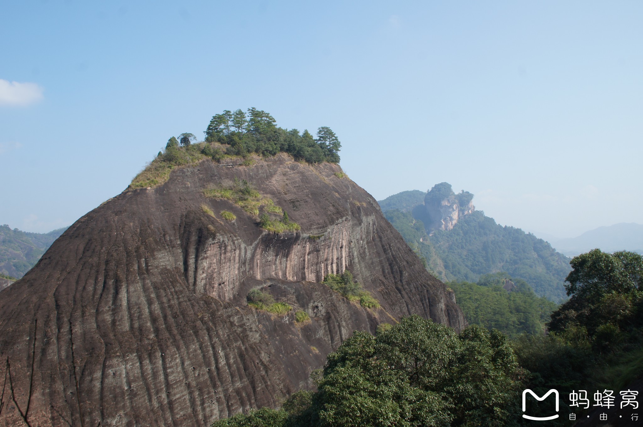
[[[525,372],[498,331],[406,317],[376,336],[356,332],[329,354],[316,392],[214,427],[508,426]]]

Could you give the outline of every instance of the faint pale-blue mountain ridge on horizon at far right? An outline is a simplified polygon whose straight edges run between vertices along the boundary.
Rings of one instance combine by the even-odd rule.
[[[583,254],[595,248],[603,252],[629,250],[643,254],[643,225],[622,222],[586,231],[575,238],[557,239],[549,236],[547,241],[567,256]]]

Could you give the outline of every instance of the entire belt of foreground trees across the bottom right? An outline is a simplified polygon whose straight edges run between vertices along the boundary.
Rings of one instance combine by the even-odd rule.
[[[486,278],[492,286],[496,279]],[[406,317],[375,336],[354,333],[313,373],[316,391],[212,426],[529,426],[520,417],[524,388],[539,396],[550,388],[561,396],[625,390],[643,376],[643,257],[592,250],[574,257],[566,281],[570,299],[552,314],[547,335],[510,340],[477,325],[457,334]],[[550,415],[546,401],[528,405],[530,415]],[[569,411],[561,405],[548,425],[567,425]]]

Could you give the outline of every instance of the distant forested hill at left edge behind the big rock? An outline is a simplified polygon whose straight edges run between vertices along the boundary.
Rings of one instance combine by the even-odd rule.
[[[20,279],[66,229],[32,233],[0,225],[0,273]]]

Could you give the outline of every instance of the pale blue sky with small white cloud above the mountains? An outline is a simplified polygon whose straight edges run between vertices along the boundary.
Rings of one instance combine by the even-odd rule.
[[[447,181],[503,225],[643,223],[643,3],[3,4],[0,223],[46,232],[168,137],[330,126],[377,199]]]

